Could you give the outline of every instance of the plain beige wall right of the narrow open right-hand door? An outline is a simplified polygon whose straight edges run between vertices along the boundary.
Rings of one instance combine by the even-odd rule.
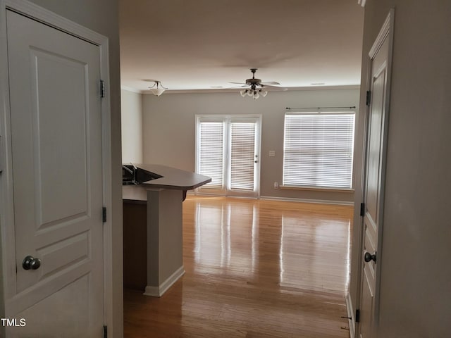
[[[367,0],[363,74],[390,8],[395,36],[377,337],[449,337],[451,1]],[[352,266],[353,277],[358,268]]]

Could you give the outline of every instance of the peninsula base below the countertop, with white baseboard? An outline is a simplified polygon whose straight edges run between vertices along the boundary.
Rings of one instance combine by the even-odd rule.
[[[182,201],[183,191],[173,189],[148,189],[147,201],[124,201],[125,287],[161,296],[185,273]]]

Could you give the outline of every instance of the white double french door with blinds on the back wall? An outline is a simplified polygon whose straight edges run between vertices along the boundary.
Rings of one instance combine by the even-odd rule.
[[[259,196],[260,115],[197,115],[196,172],[204,194]]]

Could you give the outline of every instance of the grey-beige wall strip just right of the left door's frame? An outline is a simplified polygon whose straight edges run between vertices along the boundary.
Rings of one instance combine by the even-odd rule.
[[[85,26],[109,39],[111,102],[111,161],[113,197],[113,323],[109,336],[123,337],[123,288],[122,288],[122,185],[121,185],[121,75],[119,73],[119,23],[118,0],[31,0],[58,15]]]

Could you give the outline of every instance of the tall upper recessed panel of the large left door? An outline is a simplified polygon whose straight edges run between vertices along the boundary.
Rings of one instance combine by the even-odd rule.
[[[61,223],[84,217],[89,212],[85,170],[89,163],[86,137],[89,107],[85,106],[82,90],[89,88],[89,79],[84,63],[49,52],[30,52],[32,83],[35,84],[32,91],[32,109],[35,110],[32,116],[33,172],[39,175],[35,201],[37,225],[42,229],[55,221]],[[58,90],[61,84],[65,90]],[[54,99],[56,93],[58,98]],[[61,107],[65,107],[64,110]],[[55,142],[55,139],[61,139],[61,142]],[[68,189],[70,196],[67,196]]]

